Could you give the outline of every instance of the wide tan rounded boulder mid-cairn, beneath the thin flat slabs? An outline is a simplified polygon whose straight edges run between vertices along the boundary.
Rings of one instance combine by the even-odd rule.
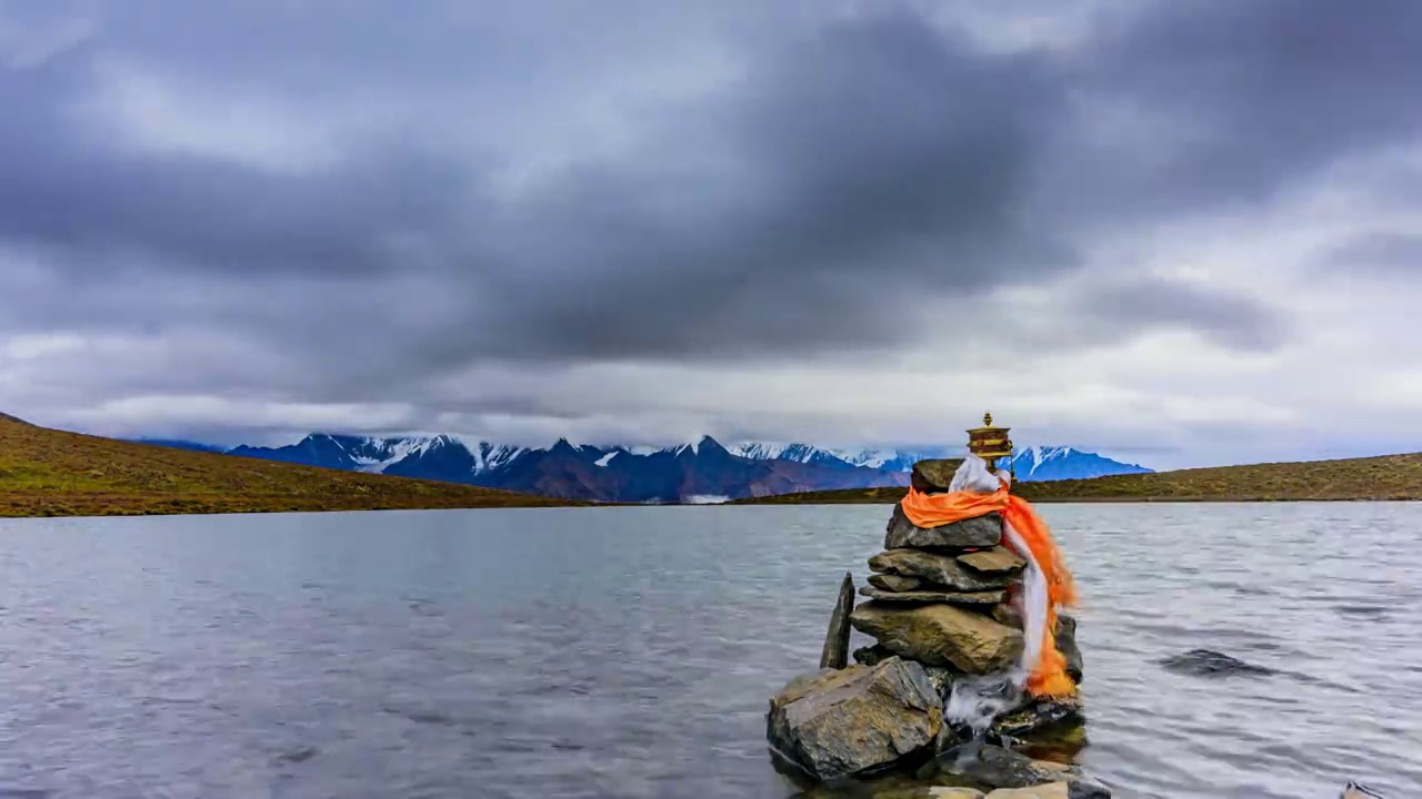
[[[927,665],[993,674],[1022,654],[1022,631],[950,604],[894,606],[866,601],[849,616],[855,630]]]

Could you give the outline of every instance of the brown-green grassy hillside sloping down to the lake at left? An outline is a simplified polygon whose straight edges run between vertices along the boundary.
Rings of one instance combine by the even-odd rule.
[[[540,496],[169,449],[0,414],[0,516],[570,505]]]

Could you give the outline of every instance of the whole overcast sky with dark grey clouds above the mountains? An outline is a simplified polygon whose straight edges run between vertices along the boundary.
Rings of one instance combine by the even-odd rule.
[[[0,0],[0,411],[1418,451],[1419,38],[1418,0]]]

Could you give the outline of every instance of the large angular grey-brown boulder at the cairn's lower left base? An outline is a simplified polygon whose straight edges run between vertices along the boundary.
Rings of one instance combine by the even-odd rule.
[[[775,754],[820,781],[926,755],[941,726],[943,701],[923,665],[897,657],[796,677],[766,714]]]

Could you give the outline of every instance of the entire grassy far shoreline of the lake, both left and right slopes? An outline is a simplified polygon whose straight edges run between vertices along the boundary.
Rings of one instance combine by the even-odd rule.
[[[906,492],[883,486],[722,503],[563,500],[117,441],[0,417],[0,518],[893,505]],[[1035,503],[1416,502],[1422,500],[1422,454],[1022,481],[1012,492]]]

